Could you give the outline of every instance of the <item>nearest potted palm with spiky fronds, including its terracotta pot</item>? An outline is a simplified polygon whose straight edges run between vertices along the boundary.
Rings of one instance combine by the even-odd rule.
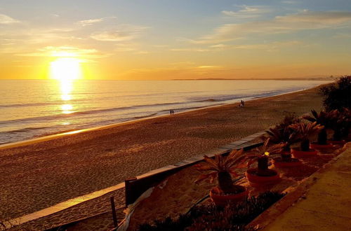
[[[213,182],[218,180],[218,186],[210,191],[210,197],[218,206],[225,206],[228,202],[240,202],[246,199],[248,192],[244,186],[234,184],[232,176],[239,176],[237,169],[243,168],[242,162],[245,155],[243,150],[234,150],[227,157],[223,155],[215,155],[215,158],[209,158],[204,155],[204,163],[196,165],[200,172],[208,172],[201,174],[195,183],[199,183],[204,179],[210,179]]]

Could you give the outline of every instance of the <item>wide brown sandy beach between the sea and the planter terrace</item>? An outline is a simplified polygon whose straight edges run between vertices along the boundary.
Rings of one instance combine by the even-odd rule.
[[[0,216],[15,218],[200,155],[322,107],[318,89],[150,118],[0,150]]]

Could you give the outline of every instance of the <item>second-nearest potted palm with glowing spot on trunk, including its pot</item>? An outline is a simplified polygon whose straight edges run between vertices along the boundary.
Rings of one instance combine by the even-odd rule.
[[[278,172],[274,169],[268,169],[268,160],[270,155],[281,153],[284,144],[268,146],[269,142],[270,139],[266,139],[263,146],[256,148],[246,156],[246,160],[249,160],[247,163],[249,169],[246,170],[245,176],[252,186],[271,185],[280,181]],[[253,162],[256,161],[257,167],[250,168]]]

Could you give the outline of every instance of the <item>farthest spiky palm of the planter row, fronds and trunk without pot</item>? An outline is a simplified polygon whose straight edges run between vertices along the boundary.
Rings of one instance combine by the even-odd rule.
[[[307,116],[303,116],[303,118],[310,122],[316,122],[318,125],[324,126],[324,128],[320,130],[318,133],[317,143],[326,145],[326,140],[327,140],[326,129],[332,127],[335,115],[333,115],[333,113],[326,112],[326,111],[320,111],[319,113],[317,113],[317,111],[311,110],[311,113],[312,113],[312,116],[307,115]]]

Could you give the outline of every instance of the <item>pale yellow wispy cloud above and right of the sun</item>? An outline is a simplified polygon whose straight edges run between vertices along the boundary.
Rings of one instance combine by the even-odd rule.
[[[91,38],[98,41],[129,41],[139,36],[147,27],[124,25],[120,29],[98,31],[91,34]]]

